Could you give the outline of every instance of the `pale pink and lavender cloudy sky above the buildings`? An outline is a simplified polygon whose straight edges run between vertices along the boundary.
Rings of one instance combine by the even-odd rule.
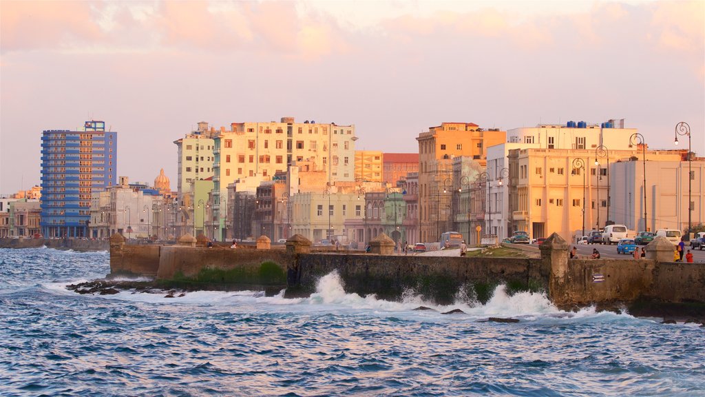
[[[197,122],[281,117],[394,153],[441,122],[624,118],[664,149],[687,122],[703,156],[705,1],[0,0],[0,194],[39,184],[47,129],[103,120],[119,176],[176,189]]]

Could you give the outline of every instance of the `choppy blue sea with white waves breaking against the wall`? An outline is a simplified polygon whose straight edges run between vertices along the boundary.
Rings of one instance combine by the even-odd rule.
[[[0,249],[1,396],[705,396],[699,324],[503,286],[486,304],[389,302],[336,273],[300,299],[66,289],[107,273],[107,252]]]

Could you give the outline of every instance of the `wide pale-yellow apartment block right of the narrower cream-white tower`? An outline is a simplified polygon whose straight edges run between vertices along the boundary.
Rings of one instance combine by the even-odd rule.
[[[214,217],[224,219],[221,197],[235,180],[239,191],[255,192],[262,182],[272,181],[295,162],[307,162],[310,171],[324,172],[327,186],[354,182],[355,141],[353,125],[297,123],[293,117],[232,123],[230,131],[221,131],[214,141]]]

